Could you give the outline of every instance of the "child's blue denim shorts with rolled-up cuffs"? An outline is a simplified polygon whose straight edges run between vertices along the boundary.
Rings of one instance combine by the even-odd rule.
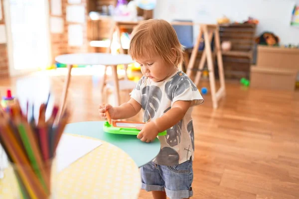
[[[170,199],[187,199],[193,196],[192,160],[174,166],[158,165],[149,162],[141,167],[142,189],[163,191]]]

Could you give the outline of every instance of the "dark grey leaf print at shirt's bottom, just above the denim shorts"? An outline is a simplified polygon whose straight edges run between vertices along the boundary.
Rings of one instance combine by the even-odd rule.
[[[179,155],[174,149],[163,147],[155,159],[159,164],[178,165]]]

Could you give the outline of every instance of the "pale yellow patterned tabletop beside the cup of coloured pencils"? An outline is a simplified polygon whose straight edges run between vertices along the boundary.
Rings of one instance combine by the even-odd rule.
[[[123,150],[101,142],[101,146],[58,174],[57,199],[138,198],[141,188],[139,168]],[[12,199],[10,172],[11,168],[6,169],[0,180],[0,199]]]

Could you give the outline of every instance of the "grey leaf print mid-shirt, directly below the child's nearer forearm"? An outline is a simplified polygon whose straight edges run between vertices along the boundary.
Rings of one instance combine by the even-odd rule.
[[[171,107],[164,110],[164,113],[170,110]],[[173,147],[180,143],[181,138],[181,130],[182,130],[182,123],[183,120],[181,119],[178,123],[176,123],[171,128],[168,128],[167,135],[166,135],[166,142],[169,144],[169,146]]]

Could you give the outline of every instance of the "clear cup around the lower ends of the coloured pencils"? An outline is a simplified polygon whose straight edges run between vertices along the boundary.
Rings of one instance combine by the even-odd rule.
[[[10,162],[9,178],[12,199],[58,199],[56,158],[45,161],[41,167]]]

